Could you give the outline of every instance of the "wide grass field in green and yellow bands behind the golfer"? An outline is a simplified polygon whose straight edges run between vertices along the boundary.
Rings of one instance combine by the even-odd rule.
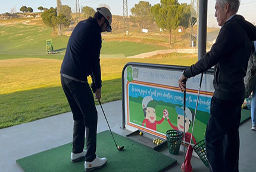
[[[68,36],[51,36],[51,31],[21,23],[0,26],[0,128],[70,111],[59,74]],[[127,59],[167,46],[150,36],[111,40],[111,34],[103,34],[102,38],[102,103],[121,99],[121,71],[127,62],[189,66],[197,60],[194,54],[178,53]],[[46,39],[52,39],[60,53],[47,55]]]

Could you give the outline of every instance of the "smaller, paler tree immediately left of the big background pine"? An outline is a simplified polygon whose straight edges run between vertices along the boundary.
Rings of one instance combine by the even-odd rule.
[[[151,4],[146,1],[139,1],[139,4],[135,4],[135,7],[130,9],[130,12],[132,12],[132,15],[135,16],[135,21],[141,22],[141,31],[144,26],[144,24],[148,22],[153,22],[154,17],[150,12]]]

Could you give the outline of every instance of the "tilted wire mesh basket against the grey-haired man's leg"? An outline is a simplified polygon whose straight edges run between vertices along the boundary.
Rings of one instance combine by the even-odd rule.
[[[196,145],[193,146],[194,151],[198,154],[198,157],[202,160],[204,165],[209,168],[209,163],[206,155],[206,148],[205,148],[205,139],[198,142]]]

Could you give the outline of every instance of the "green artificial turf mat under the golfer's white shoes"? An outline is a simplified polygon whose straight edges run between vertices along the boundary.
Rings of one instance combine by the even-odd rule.
[[[176,160],[131,139],[113,133],[115,141],[124,146],[118,151],[109,130],[98,133],[96,154],[106,157],[108,163],[95,171],[161,171]],[[85,171],[84,161],[71,163],[72,144],[65,144],[48,151],[39,152],[16,161],[20,167],[28,171]]]

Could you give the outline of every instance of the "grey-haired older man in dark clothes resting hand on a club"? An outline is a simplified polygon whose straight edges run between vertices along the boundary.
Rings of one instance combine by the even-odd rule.
[[[239,123],[245,94],[246,75],[256,27],[237,15],[239,0],[217,0],[215,17],[221,26],[216,43],[202,59],[183,72],[183,81],[214,66],[214,94],[205,141],[210,171],[238,171]]]

